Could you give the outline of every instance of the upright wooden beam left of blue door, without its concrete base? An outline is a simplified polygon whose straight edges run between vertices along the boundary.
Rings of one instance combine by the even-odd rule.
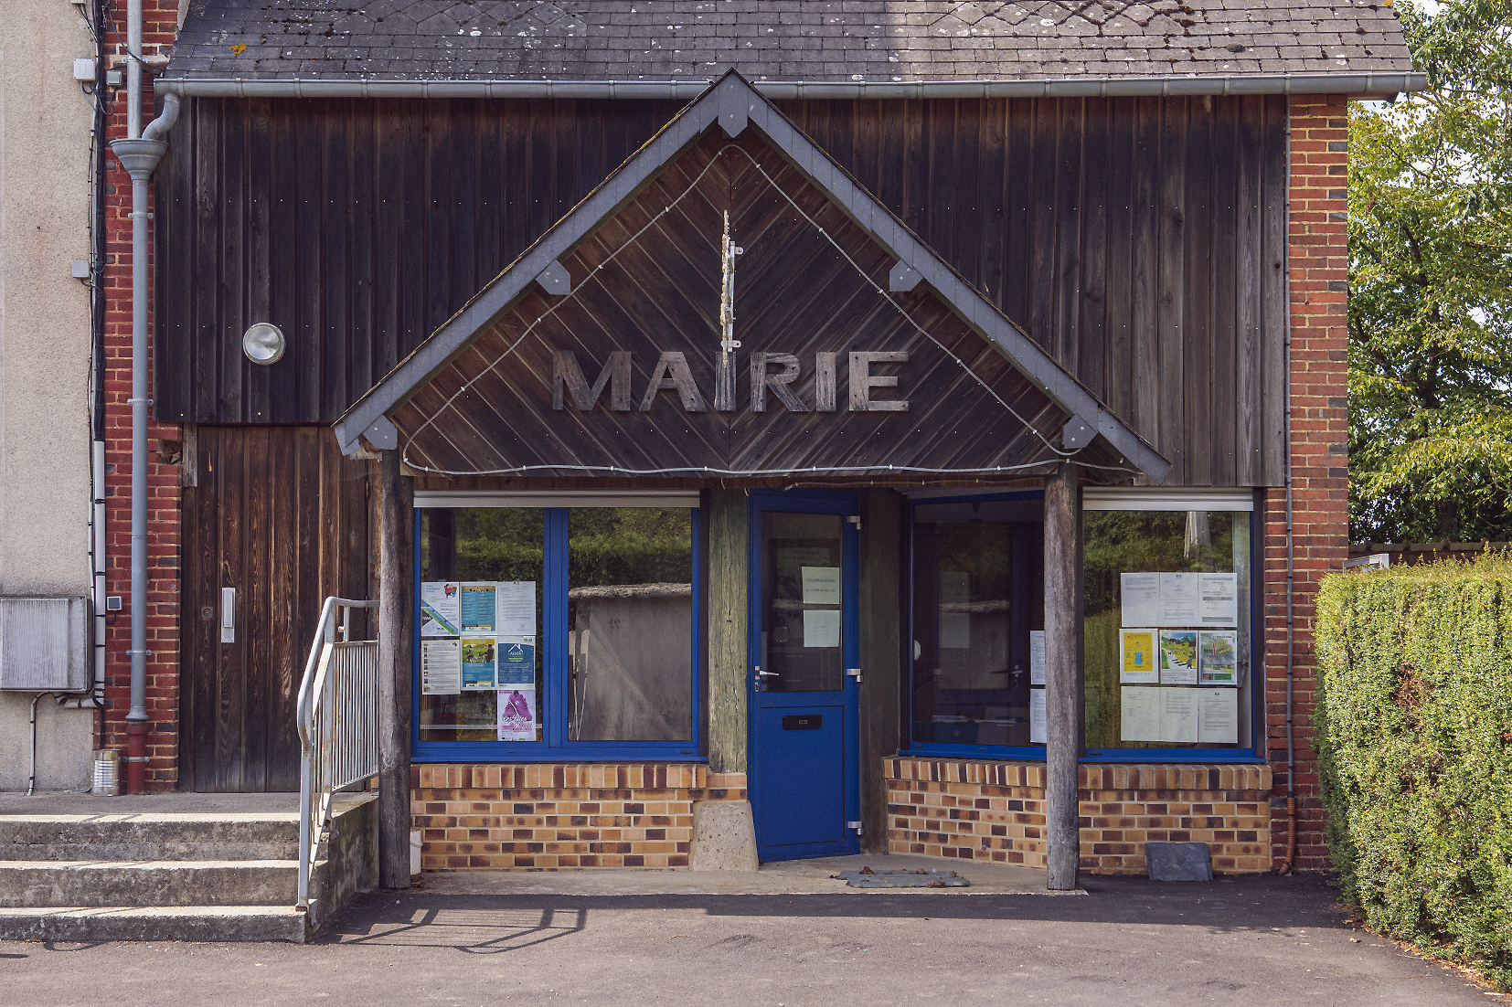
[[[709,773],[745,773],[745,490],[709,493]]]

